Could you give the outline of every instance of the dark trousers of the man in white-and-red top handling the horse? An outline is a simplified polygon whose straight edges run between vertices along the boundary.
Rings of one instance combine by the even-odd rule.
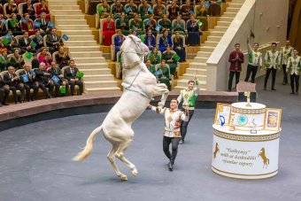
[[[167,137],[163,136],[163,151],[166,157],[171,160],[174,164],[174,159],[178,153],[178,145],[180,143],[181,137]],[[172,143],[172,153],[169,151],[169,144]]]

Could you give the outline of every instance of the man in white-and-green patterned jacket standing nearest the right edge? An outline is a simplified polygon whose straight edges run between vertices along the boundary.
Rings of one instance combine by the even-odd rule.
[[[291,93],[298,95],[299,91],[299,78],[301,73],[301,58],[298,56],[297,49],[293,50],[293,56],[288,59],[288,66],[286,72],[290,75],[290,87]],[[296,84],[296,92],[295,92],[295,84]]]

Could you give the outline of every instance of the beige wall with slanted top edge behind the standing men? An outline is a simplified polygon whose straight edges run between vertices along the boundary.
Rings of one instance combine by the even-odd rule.
[[[251,30],[255,35],[251,43],[258,42],[262,53],[269,49],[268,46],[272,42],[280,42],[278,45],[280,48],[286,41],[288,10],[289,0],[245,0],[243,7],[207,61],[207,89],[228,89],[228,55],[234,50],[235,43],[241,43],[242,51],[246,52],[246,37],[250,35]],[[240,80],[245,77],[246,66],[247,59],[243,64]],[[258,76],[263,73],[258,73]]]

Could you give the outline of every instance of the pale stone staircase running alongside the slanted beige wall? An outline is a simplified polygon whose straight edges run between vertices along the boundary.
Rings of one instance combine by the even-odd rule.
[[[189,64],[182,79],[177,81],[177,86],[174,88],[175,91],[187,88],[188,81],[194,78],[195,72],[197,72],[197,79],[200,81],[200,89],[206,89],[207,76],[210,76],[206,73],[206,62],[208,58],[210,58],[212,51],[218,43],[220,43],[221,37],[227,31],[244,1],[245,0],[232,0],[226,3],[226,12],[221,15],[217,21],[217,25],[213,29],[209,29],[210,35],[208,35],[205,43],[201,45],[200,50],[197,52],[197,57]]]

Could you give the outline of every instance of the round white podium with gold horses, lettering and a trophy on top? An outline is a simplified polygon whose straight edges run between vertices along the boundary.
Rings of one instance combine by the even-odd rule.
[[[258,180],[278,173],[282,110],[248,102],[217,104],[212,171],[236,179]]]

